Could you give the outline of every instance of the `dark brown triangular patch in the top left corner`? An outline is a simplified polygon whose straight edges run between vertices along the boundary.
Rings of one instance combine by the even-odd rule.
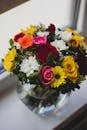
[[[0,0],[0,14],[29,0]]]

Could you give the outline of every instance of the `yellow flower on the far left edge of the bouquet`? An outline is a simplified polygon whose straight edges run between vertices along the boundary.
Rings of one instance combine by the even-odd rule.
[[[4,68],[8,71],[11,72],[13,66],[14,66],[14,59],[17,55],[16,49],[12,48],[8,54],[6,55],[5,59],[4,59]]]

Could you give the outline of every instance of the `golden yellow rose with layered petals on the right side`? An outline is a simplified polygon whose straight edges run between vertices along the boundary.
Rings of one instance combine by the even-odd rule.
[[[69,80],[75,83],[78,79],[78,64],[74,61],[73,56],[66,56],[62,62],[64,71]]]

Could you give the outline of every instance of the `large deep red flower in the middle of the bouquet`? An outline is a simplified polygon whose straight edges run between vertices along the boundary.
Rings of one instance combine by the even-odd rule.
[[[50,53],[52,53],[56,58],[59,57],[59,52],[57,49],[50,44],[39,46],[36,49],[36,56],[41,63],[46,62]]]

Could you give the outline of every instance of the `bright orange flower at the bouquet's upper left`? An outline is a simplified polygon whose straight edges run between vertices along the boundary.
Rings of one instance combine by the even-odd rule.
[[[18,39],[18,43],[21,45],[23,49],[26,49],[33,45],[33,36],[26,34],[22,38]]]

